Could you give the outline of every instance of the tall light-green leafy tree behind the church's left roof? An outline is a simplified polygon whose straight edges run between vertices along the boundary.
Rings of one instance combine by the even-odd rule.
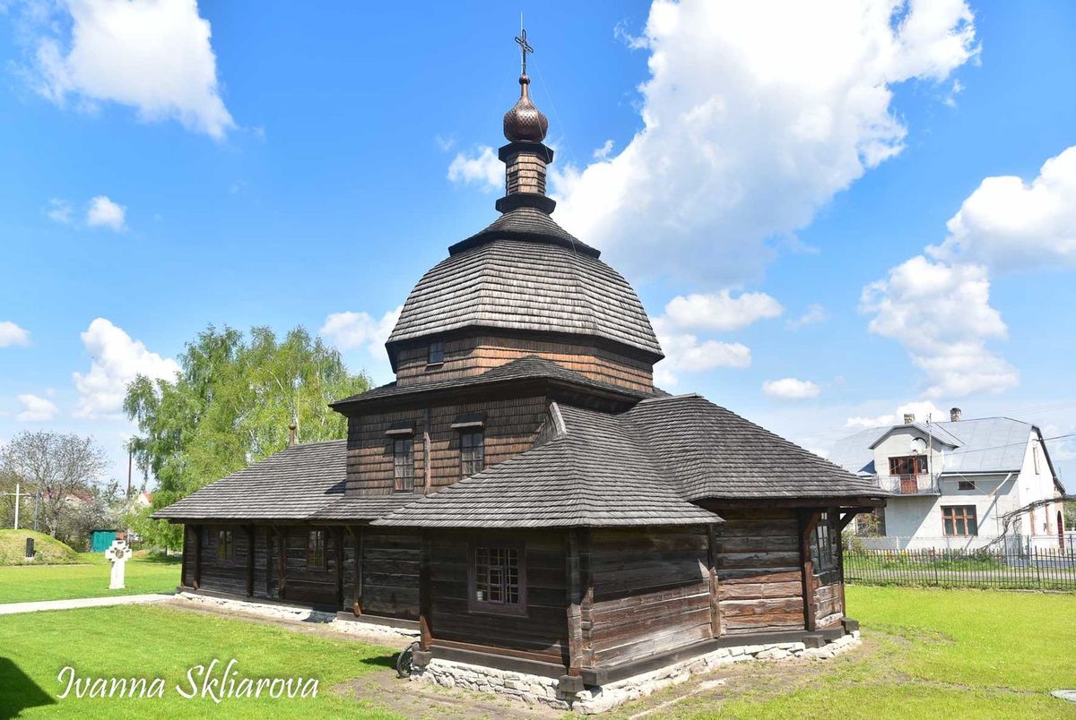
[[[302,328],[283,342],[254,328],[247,342],[238,330],[210,326],[179,360],[173,380],[139,376],[124,400],[140,432],[130,448],[157,478],[153,509],[283,449],[293,422],[300,442],[344,437],[346,419],[328,403],[369,388],[365,375],[350,374],[337,350]],[[148,542],[180,547],[179,528],[148,513],[131,521]]]

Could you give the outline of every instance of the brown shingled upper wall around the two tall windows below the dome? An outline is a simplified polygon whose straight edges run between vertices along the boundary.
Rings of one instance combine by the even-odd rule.
[[[461,479],[459,431],[455,419],[472,412],[484,412],[485,465],[493,466],[529,449],[547,415],[541,397],[461,403],[429,408],[429,479],[431,489]],[[414,421],[415,437],[423,440],[425,409],[364,415],[349,420],[348,493],[392,494],[392,444],[384,432],[395,422]],[[423,494],[426,477],[425,446],[415,443],[414,493]]]

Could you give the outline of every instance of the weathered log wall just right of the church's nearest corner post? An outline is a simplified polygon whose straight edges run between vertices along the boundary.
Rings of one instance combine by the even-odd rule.
[[[584,646],[617,664],[712,636],[704,525],[594,530]]]

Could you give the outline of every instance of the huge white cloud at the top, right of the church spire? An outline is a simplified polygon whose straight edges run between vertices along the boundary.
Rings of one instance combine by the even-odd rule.
[[[655,0],[641,38],[618,32],[650,52],[643,128],[615,156],[552,168],[557,219],[634,269],[725,285],[902,150],[892,86],[942,82],[977,52],[962,0]]]

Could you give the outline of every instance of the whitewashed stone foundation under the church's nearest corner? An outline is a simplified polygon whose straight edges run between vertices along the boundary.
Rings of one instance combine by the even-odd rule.
[[[565,693],[554,678],[526,673],[493,669],[449,660],[433,660],[425,667],[416,667],[411,679],[433,682],[444,688],[464,688],[522,700],[528,704],[546,705],[557,710],[576,710],[583,714],[605,712],[623,703],[645,697],[657,690],[679,685],[692,675],[711,673],[723,665],[745,661],[829,660],[861,644],[860,632],[853,631],[820,648],[808,648],[803,643],[773,643],[719,648],[690,660],[672,663],[656,671],[608,682],[598,688],[586,688],[578,693]]]

